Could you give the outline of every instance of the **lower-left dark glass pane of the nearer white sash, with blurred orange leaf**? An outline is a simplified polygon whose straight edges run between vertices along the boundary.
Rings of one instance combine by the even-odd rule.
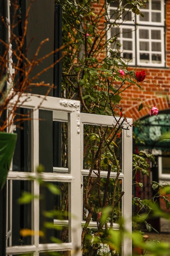
[[[12,246],[31,245],[31,201],[26,203],[26,195],[31,198],[31,181],[13,180]]]

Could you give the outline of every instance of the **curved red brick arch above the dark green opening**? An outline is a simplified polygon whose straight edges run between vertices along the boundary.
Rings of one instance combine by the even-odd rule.
[[[151,108],[154,106],[157,106],[157,108],[160,110],[166,110],[170,108],[170,97],[159,97],[159,98],[154,98],[154,99],[149,99],[148,101],[145,101],[146,105],[150,106]],[[141,111],[138,112],[139,108],[139,101],[137,104],[133,105],[131,108],[128,108],[125,111],[125,108],[123,108],[123,115],[124,117],[130,117],[134,121],[137,121],[138,119],[141,119],[147,115],[149,115],[149,108],[145,106]]]

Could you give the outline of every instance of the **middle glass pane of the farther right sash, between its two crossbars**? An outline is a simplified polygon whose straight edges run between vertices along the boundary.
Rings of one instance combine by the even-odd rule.
[[[98,173],[99,174],[99,173]],[[88,180],[90,182],[88,183]],[[121,196],[122,196],[122,180],[113,178],[103,178],[100,175],[96,177],[84,176],[84,205],[83,205],[83,220],[87,220],[88,205],[86,204],[86,198],[89,203],[93,203],[93,213],[91,215],[91,221],[98,221],[100,219],[100,212],[102,208],[107,206],[113,207],[114,211],[111,211],[108,216],[108,221],[112,220],[113,223],[118,222],[121,217]]]

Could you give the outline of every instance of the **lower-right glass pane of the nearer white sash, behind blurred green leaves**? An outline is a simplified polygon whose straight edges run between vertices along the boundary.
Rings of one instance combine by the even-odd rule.
[[[40,198],[40,243],[68,242],[68,183],[43,182]]]

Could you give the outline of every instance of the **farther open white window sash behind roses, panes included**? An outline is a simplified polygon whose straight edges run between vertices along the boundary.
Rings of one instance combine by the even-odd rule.
[[[93,114],[85,114],[81,113],[81,128],[82,128],[82,171],[81,171],[81,184],[84,184],[84,181],[88,179],[89,175],[89,167],[91,166],[91,160],[93,159],[93,148],[95,146],[95,143],[91,145],[90,148],[90,140],[87,144],[86,141],[90,139],[90,136],[92,135],[92,140],[95,140],[95,136],[97,138],[97,130],[101,129],[102,132],[105,132],[107,129],[108,134],[110,134],[110,130],[113,130],[113,126],[116,126],[117,120],[114,117],[111,116],[102,116],[102,115],[93,115]],[[119,120],[119,124],[121,124],[123,119]],[[119,201],[119,205],[117,206],[117,211],[113,210],[113,214],[115,214],[115,222],[113,223],[113,229],[119,230],[119,224],[117,223],[117,219],[119,217],[122,217],[124,219],[125,223],[125,229],[131,233],[132,231],[132,186],[131,186],[131,180],[132,180],[132,127],[129,126],[129,124],[132,124],[132,119],[127,119],[127,121],[124,121],[122,124],[123,129],[120,130],[120,133],[117,134],[117,146],[115,146],[115,155],[116,158],[119,161],[119,177],[118,177],[118,193],[119,195],[123,192],[124,195],[122,196],[121,200]],[[87,132],[88,130],[88,132]],[[86,131],[86,132],[85,132]],[[88,149],[85,148],[88,145]],[[84,150],[83,150],[84,148]],[[86,152],[88,152],[88,157],[86,156]],[[101,168],[98,171],[97,169],[92,171],[91,174],[91,185],[95,186],[95,182],[97,184],[100,182],[100,189],[101,189],[101,200],[102,200],[102,206],[104,203],[104,191],[106,188],[106,180],[108,177],[108,159],[109,156],[107,155],[105,149],[102,153],[102,159],[103,164],[101,164]],[[109,154],[109,153],[108,153]],[[107,158],[108,157],[108,158]],[[106,165],[105,165],[106,163]],[[103,168],[102,168],[103,167]],[[112,197],[113,193],[113,186],[115,184],[115,180],[117,177],[117,167],[113,164],[113,169],[110,172],[110,179],[108,184],[108,194],[110,195],[110,198]],[[99,173],[99,180],[97,179],[97,174]],[[99,185],[99,184],[98,184]],[[87,188],[85,188],[87,189]],[[109,191],[110,189],[110,191]],[[86,193],[86,191],[84,191]],[[99,202],[97,202],[98,198],[100,196],[97,194],[97,187],[93,190],[93,198],[94,198],[94,204],[95,204],[95,211],[92,215],[91,221],[89,223],[89,232],[93,232],[91,230],[94,230],[97,228],[97,213],[99,212],[99,209],[101,209],[101,205]],[[83,198],[83,194],[82,194]],[[84,200],[83,200],[84,201]],[[109,205],[109,202],[108,202]],[[110,204],[111,205],[111,204]],[[86,222],[87,217],[87,209],[84,208],[84,202],[82,202],[82,208],[83,208],[83,219],[82,219],[82,225]],[[108,226],[110,225],[108,221]],[[108,249],[108,251],[107,251]],[[103,245],[101,248],[101,255],[102,252],[109,252],[109,248],[107,248],[107,244]],[[121,255],[128,256],[132,253],[132,241],[128,239],[127,237],[123,238],[122,240],[122,251]]]

